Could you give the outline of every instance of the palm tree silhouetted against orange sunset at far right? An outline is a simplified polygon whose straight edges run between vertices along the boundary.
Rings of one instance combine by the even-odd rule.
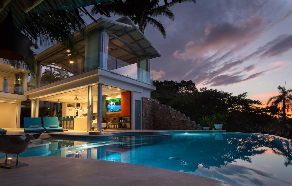
[[[271,103],[272,106],[279,107],[282,104],[283,119],[286,119],[286,110],[292,109],[292,88],[286,90],[285,86],[278,85],[279,95],[270,97],[267,105]]]

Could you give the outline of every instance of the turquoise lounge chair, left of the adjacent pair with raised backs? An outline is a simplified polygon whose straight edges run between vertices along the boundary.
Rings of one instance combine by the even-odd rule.
[[[44,130],[41,127],[41,118],[24,118],[24,133],[40,133]]]

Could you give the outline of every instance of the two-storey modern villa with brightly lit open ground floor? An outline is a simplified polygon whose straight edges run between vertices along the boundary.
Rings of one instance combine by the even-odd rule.
[[[91,127],[98,130],[141,129],[142,97],[150,98],[150,91],[155,90],[150,59],[159,57],[159,52],[128,17],[115,21],[100,18],[97,23],[86,26],[85,31],[84,37],[81,32],[77,35],[74,54],[69,54],[61,44],[46,49],[36,56],[38,75],[29,77],[27,88],[22,86],[21,91],[17,91],[15,83],[14,90],[8,88],[9,93],[1,93],[22,94],[14,101],[1,96],[7,98],[1,102],[17,105],[17,112],[13,113],[16,124],[13,120],[2,128],[19,128],[19,101],[28,96],[31,117],[39,117],[39,101],[61,104],[59,117],[74,118],[62,122],[65,128],[85,131]],[[28,72],[13,70],[15,75],[9,83],[13,85],[14,79],[23,76],[21,83],[26,84]],[[4,89],[7,78],[8,75],[3,75]],[[1,108],[4,109],[4,105]],[[54,114],[60,110],[55,109]]]

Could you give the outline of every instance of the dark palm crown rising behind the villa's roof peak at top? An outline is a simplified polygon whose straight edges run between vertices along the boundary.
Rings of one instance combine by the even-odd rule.
[[[169,8],[181,2],[196,3],[196,0],[172,0],[170,3],[167,3],[167,0],[164,0],[166,4],[162,6],[159,6],[159,2],[160,0],[109,0],[104,4],[94,6],[91,9],[91,14],[102,14],[102,11],[109,11],[114,13],[114,15],[127,15],[136,25],[138,25],[142,33],[144,33],[146,26],[150,24],[159,29],[165,39],[165,28],[163,24],[155,18],[166,17],[174,20],[174,14]]]

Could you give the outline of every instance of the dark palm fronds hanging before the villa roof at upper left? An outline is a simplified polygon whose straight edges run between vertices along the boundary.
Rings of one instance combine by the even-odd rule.
[[[15,68],[26,65],[35,77],[37,72],[36,53],[34,49],[61,42],[71,53],[75,51],[76,37],[74,32],[86,25],[78,9],[51,11],[44,13],[29,12],[23,22],[21,31],[31,39],[31,47],[23,61],[4,60]],[[83,33],[83,32],[82,32]]]

